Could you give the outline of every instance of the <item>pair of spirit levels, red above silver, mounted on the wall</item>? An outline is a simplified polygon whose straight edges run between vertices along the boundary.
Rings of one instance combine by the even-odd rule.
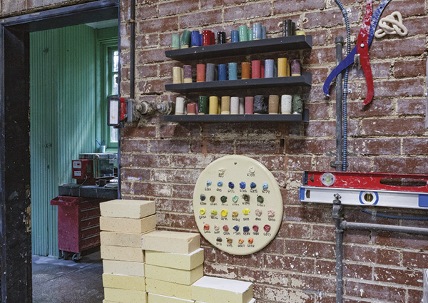
[[[428,175],[305,172],[300,201],[428,209]]]

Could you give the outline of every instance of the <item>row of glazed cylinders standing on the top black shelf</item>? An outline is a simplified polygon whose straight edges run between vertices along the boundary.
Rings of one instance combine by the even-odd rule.
[[[282,36],[305,35],[304,31],[295,31],[295,23],[290,19],[282,21]],[[253,24],[253,29],[248,29],[246,25],[239,26],[238,30],[230,31],[230,42],[243,42],[260,40],[266,38],[266,26],[262,26],[260,22]],[[217,44],[226,43],[225,31],[217,32]],[[183,35],[173,34],[172,46],[173,49],[188,48],[196,46],[208,46],[215,44],[215,33],[205,29],[199,31],[188,31],[185,29]]]

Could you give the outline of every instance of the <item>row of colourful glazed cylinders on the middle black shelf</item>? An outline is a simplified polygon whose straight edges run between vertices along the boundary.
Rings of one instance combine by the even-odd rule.
[[[192,66],[185,65],[173,67],[173,83],[192,83]],[[278,58],[277,64],[273,59],[266,59],[241,63],[241,79],[275,78],[287,76],[301,76],[302,71],[299,60],[288,61],[287,58]],[[196,82],[238,80],[238,63],[213,63],[196,65]]]

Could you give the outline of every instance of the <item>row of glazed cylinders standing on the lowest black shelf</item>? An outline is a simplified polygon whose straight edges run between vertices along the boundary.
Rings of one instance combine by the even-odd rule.
[[[175,115],[252,115],[252,114],[302,114],[300,95],[230,97],[200,96],[198,103],[185,103],[183,97],[175,100]]]

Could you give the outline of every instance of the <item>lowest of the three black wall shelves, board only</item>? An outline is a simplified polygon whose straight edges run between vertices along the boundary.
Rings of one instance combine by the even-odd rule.
[[[309,110],[303,115],[164,115],[163,120],[178,123],[234,123],[234,122],[309,122]]]

